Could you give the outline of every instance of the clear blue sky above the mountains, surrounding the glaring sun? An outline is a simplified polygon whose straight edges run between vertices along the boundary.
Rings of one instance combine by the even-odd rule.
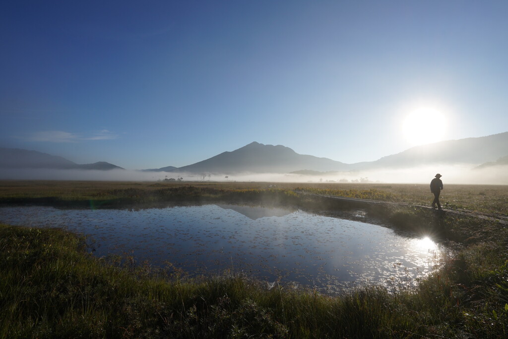
[[[439,139],[506,132],[507,17],[506,1],[4,3],[0,147],[142,169],[258,141],[355,163],[415,145],[421,107],[441,119],[411,128]]]

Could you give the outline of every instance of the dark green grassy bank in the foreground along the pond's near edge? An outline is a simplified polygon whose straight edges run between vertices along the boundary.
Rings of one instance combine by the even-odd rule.
[[[507,238],[498,230],[496,242],[463,248],[414,291],[328,297],[232,274],[118,267],[69,232],[1,225],[0,336],[503,337]]]

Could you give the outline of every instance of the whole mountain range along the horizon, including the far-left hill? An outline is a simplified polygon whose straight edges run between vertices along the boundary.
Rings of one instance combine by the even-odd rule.
[[[508,132],[414,146],[376,161],[354,164],[301,155],[287,146],[265,145],[253,141],[233,151],[221,152],[214,157],[187,166],[178,168],[166,166],[141,171],[227,175],[306,172],[316,174],[320,172],[410,168],[429,164],[470,164],[476,167],[486,164],[483,167],[487,167],[504,165],[506,155],[508,155]],[[20,148],[0,148],[0,168],[123,169],[107,162],[79,165],[62,157]]]

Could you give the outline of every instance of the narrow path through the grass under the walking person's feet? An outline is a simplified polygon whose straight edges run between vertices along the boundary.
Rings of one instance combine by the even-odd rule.
[[[501,215],[482,214],[482,213],[477,213],[477,212],[469,211],[469,210],[459,211],[459,210],[453,210],[453,209],[447,209],[447,208],[443,208],[441,210],[435,210],[430,206],[408,204],[405,202],[391,202],[391,201],[378,201],[378,200],[369,200],[369,199],[347,198],[347,197],[338,197],[338,196],[326,195],[326,194],[313,194],[313,193],[307,193],[307,192],[301,192],[301,191],[295,191],[295,193],[305,194],[305,195],[310,195],[310,196],[315,196],[315,197],[321,197],[321,198],[336,199],[336,200],[345,201],[345,202],[356,202],[356,203],[367,204],[367,205],[368,204],[378,204],[378,205],[398,205],[398,206],[419,207],[419,208],[434,210],[435,213],[446,212],[446,213],[450,213],[450,214],[466,215],[467,217],[475,217],[475,218],[480,218],[480,219],[485,219],[485,220],[490,220],[490,221],[497,221],[503,225],[508,225],[508,217],[504,217]]]

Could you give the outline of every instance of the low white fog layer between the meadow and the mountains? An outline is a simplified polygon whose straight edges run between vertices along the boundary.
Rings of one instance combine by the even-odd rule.
[[[267,182],[384,182],[427,183],[440,173],[444,183],[508,184],[508,166],[475,169],[475,165],[433,165],[405,169],[376,169],[370,171],[333,172],[322,175],[302,174],[214,174],[141,172],[133,170],[52,170],[0,169],[0,179],[40,180],[112,180],[112,181],[267,181]],[[227,177],[226,177],[227,176]]]

